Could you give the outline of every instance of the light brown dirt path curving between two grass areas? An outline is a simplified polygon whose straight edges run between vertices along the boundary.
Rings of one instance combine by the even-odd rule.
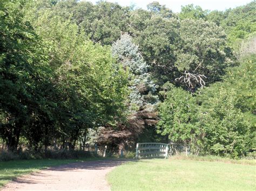
[[[21,176],[3,190],[110,190],[105,176],[125,161],[76,162]]]

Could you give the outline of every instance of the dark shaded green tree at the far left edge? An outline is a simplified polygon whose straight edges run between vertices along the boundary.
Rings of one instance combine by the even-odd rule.
[[[44,50],[41,39],[25,22],[23,12],[18,11],[22,3],[2,2],[0,6],[5,12],[0,24],[0,113],[3,114],[0,131],[9,150],[17,148],[19,137],[28,125],[39,121],[36,116],[44,112],[39,105],[45,104],[44,91],[51,76],[41,55]]]

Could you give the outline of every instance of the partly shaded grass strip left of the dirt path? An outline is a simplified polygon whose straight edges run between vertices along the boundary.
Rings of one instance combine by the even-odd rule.
[[[76,162],[78,160],[57,160],[57,159],[42,159],[42,160],[12,160],[12,161],[0,161],[0,188],[6,183],[21,176],[36,172],[39,169],[47,168],[51,166],[58,166]]]

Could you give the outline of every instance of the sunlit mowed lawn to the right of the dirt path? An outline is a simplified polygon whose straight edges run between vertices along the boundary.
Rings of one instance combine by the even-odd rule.
[[[256,166],[144,159],[115,168],[107,180],[112,190],[256,190]]]

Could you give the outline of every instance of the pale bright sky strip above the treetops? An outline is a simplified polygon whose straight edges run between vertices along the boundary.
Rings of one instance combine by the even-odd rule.
[[[85,0],[92,3],[98,2],[98,0]],[[253,0],[106,0],[108,2],[118,3],[122,6],[130,6],[132,4],[136,5],[136,8],[146,9],[147,4],[158,1],[161,5],[166,5],[174,12],[179,12],[181,10],[181,5],[194,4],[199,5],[203,10],[219,10],[224,11],[228,8],[235,8],[236,6],[245,5],[252,2]]]

